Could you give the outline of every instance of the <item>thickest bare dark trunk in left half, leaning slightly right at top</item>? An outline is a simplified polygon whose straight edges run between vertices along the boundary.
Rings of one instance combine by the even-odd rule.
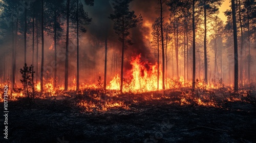
[[[67,35],[66,35],[66,59],[65,59],[65,88],[68,90],[69,83],[69,15],[70,15],[70,0],[67,1]]]

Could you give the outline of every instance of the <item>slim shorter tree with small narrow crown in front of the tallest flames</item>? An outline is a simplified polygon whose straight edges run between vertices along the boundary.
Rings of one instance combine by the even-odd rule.
[[[155,22],[152,25],[152,36],[153,42],[157,44],[157,90],[159,90],[159,40],[160,35],[160,17],[156,18]]]

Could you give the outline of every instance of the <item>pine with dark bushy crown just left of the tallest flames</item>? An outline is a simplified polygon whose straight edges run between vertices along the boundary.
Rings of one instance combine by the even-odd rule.
[[[124,0],[114,5],[114,14],[110,14],[110,19],[114,21],[115,33],[119,36],[119,40],[122,42],[122,62],[121,62],[121,84],[120,92],[123,89],[123,59],[124,59],[124,46],[125,44],[132,44],[129,29],[137,26],[139,21],[142,21],[141,15],[137,17],[134,11],[129,11],[129,3],[133,0]]]

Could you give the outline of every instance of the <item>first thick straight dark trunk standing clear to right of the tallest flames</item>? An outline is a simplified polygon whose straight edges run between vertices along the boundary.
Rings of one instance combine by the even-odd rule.
[[[193,81],[192,81],[192,90],[195,90],[195,78],[196,78],[196,32],[195,32],[195,1],[193,0]]]

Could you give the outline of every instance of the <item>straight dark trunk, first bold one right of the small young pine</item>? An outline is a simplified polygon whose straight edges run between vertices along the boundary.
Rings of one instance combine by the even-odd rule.
[[[40,87],[41,92],[44,91],[44,0],[41,0],[41,38],[42,38],[42,59],[41,59],[41,76]]]

